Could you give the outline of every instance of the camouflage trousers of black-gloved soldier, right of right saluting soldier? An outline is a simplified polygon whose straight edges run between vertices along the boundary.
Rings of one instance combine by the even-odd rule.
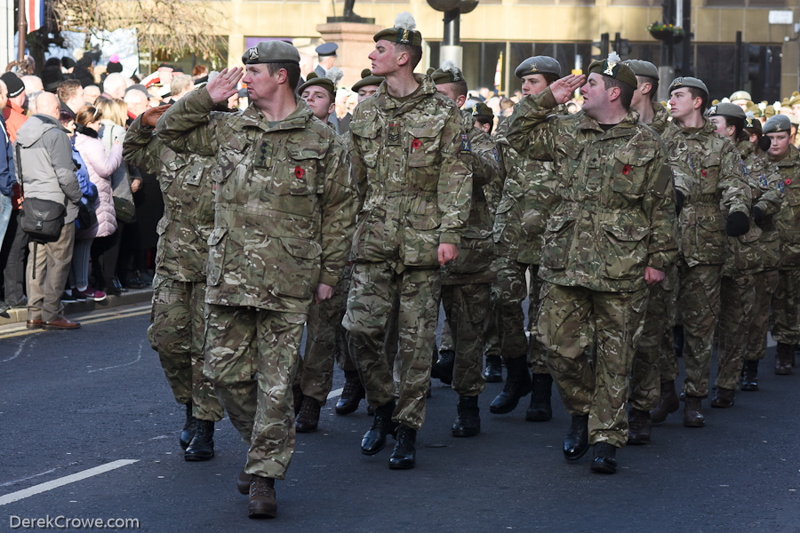
[[[678,306],[684,322],[686,369],[683,391],[689,396],[708,397],[714,330],[719,318],[721,271],[721,265],[688,267],[681,263],[678,272]],[[672,354],[668,359],[669,367],[677,369],[677,356]]]

